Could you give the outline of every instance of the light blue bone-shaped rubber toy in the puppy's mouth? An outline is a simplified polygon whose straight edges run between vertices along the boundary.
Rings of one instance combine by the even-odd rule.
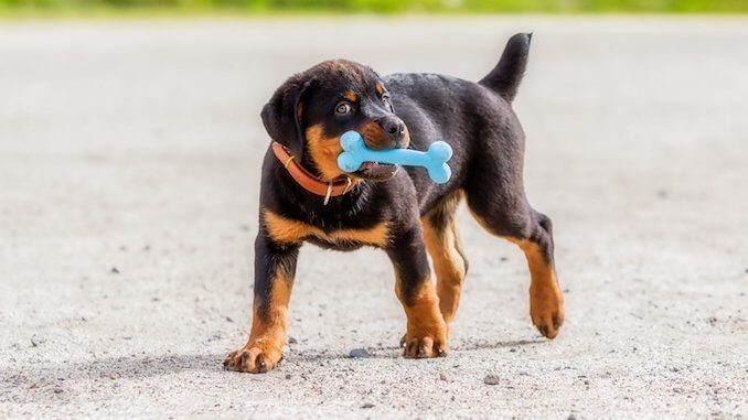
[[[410,149],[371,150],[356,131],[345,131],[340,138],[343,152],[338,157],[338,166],[344,172],[357,171],[364,162],[423,166],[428,176],[437,184],[449,181],[452,171],[447,161],[452,157],[452,148],[445,141],[435,141],[425,152]]]

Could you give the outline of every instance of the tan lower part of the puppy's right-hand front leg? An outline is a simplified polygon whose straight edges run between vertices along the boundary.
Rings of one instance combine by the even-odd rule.
[[[434,283],[425,279],[423,286],[409,302],[403,295],[399,278],[395,284],[395,293],[403,303],[408,319],[407,333],[404,337],[405,357],[438,357],[446,355],[449,347],[447,338],[447,324],[439,312],[439,298],[437,298]]]

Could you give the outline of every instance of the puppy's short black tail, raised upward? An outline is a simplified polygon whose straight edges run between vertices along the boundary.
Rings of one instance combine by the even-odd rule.
[[[479,83],[511,103],[516,96],[520,82],[522,82],[522,76],[527,66],[530,40],[532,37],[532,33],[517,33],[512,36],[506,42],[499,64]]]

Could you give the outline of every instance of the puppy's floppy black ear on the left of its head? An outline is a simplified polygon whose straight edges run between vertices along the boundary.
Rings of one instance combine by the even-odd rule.
[[[288,148],[297,160],[303,154],[301,112],[304,94],[313,80],[289,79],[276,90],[270,101],[263,107],[263,125],[273,140]]]

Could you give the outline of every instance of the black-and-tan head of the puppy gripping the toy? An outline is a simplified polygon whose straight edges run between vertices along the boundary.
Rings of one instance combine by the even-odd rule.
[[[380,76],[344,60],[320,63],[289,78],[261,116],[268,134],[325,181],[344,174],[336,160],[343,151],[340,136],[348,130],[359,131],[374,150],[406,148],[410,142]],[[396,165],[366,162],[352,175],[384,181],[395,172]]]

